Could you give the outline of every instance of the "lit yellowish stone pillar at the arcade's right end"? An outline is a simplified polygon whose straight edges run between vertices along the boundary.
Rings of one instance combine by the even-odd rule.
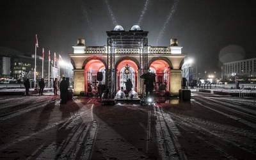
[[[170,70],[170,95],[179,96],[182,81],[181,72],[182,70]]]

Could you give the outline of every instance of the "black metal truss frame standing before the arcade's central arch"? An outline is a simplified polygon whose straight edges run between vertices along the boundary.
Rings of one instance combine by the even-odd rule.
[[[148,31],[130,30],[130,31],[107,31],[108,35],[108,61],[106,68],[106,84],[110,93],[110,99],[115,97],[116,93],[116,49],[138,49],[140,54],[140,76],[148,71]],[[145,89],[141,83],[141,93]]]

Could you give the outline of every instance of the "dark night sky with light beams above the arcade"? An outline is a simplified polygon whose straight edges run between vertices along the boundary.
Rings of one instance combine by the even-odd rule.
[[[220,72],[221,61],[255,58],[256,3],[237,0],[1,0],[0,46],[35,54],[51,50],[69,60],[77,38],[107,44],[116,25],[139,24],[148,45],[177,38],[198,72]],[[200,71],[202,70],[202,71]]]

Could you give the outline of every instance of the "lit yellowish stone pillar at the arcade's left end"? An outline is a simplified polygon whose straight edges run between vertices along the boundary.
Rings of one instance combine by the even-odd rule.
[[[84,69],[74,69],[74,95],[83,95],[84,92]]]

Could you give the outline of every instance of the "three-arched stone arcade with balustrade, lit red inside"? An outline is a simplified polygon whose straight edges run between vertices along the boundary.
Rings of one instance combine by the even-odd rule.
[[[137,25],[129,31],[116,26],[107,35],[108,45],[86,47],[84,39],[78,39],[73,46],[74,53],[69,56],[74,66],[74,95],[92,95],[99,84],[106,84],[115,95],[126,89],[127,79],[132,81],[132,90],[141,95],[144,85],[140,76],[145,72],[156,74],[154,93],[179,95],[181,67],[187,54],[182,54],[176,38],[168,47],[153,47],[147,44],[148,32]],[[98,72],[102,72],[101,81]]]

